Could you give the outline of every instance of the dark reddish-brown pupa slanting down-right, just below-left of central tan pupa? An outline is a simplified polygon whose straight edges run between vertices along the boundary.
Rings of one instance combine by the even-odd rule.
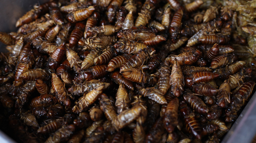
[[[134,90],[133,83],[127,79],[125,79],[118,71],[115,71],[110,74],[111,80],[116,84],[123,84],[129,90]]]

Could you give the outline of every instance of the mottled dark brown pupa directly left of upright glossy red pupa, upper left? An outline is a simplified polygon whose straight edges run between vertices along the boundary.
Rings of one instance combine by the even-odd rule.
[[[64,25],[61,26],[58,35],[56,36],[56,40],[55,43],[57,45],[62,44],[63,42],[67,41],[67,38],[69,37],[69,30],[71,29],[71,24],[70,23],[66,23]]]

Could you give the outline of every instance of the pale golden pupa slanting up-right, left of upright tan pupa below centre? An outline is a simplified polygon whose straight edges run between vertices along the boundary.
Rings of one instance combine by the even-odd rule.
[[[80,97],[77,102],[75,102],[75,106],[72,108],[74,113],[82,112],[86,107],[94,103],[99,95],[102,93],[103,87],[105,85],[99,85],[95,87],[92,91],[84,94],[84,96]]]

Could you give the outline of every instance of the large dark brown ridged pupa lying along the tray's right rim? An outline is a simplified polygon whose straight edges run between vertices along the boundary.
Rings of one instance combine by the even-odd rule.
[[[225,110],[226,122],[232,122],[237,118],[237,112],[245,104],[245,101],[250,97],[254,86],[255,82],[246,82],[233,95],[228,108]]]

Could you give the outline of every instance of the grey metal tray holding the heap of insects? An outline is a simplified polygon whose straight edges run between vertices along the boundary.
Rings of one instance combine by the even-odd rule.
[[[44,3],[49,0],[1,0],[0,2],[0,31],[16,31],[15,23],[19,17],[30,10],[35,3]],[[8,52],[5,45],[0,43],[0,52]],[[256,93],[225,135],[222,143],[250,143],[256,134]],[[1,143],[15,143],[13,139],[0,131]]]

